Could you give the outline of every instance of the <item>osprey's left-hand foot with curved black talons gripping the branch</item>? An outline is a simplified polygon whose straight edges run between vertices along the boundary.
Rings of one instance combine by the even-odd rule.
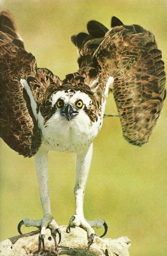
[[[40,238],[42,240],[42,245],[43,245],[43,249],[44,249],[44,236],[45,236],[45,231],[46,228],[49,228],[51,230],[51,233],[58,233],[59,235],[59,242],[61,241],[61,233],[60,233],[60,229],[58,224],[55,222],[54,218],[52,215],[48,214],[45,215],[43,218],[35,221],[34,219],[29,219],[29,218],[25,218],[23,219],[19,224],[18,224],[18,232],[20,234],[22,234],[21,232],[21,226],[24,225],[25,227],[37,227],[40,228]]]

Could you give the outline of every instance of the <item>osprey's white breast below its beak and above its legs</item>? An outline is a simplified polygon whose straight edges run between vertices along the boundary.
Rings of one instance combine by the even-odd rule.
[[[71,120],[55,113],[45,124],[41,113],[38,113],[38,123],[42,131],[45,147],[48,150],[82,153],[94,141],[101,127],[101,118],[90,122],[85,112],[80,112]],[[100,124],[101,123],[101,124]]]

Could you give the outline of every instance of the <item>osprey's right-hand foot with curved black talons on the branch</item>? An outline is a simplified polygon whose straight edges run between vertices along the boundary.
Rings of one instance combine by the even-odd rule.
[[[93,243],[94,240],[94,229],[92,227],[101,228],[105,227],[105,232],[101,237],[104,237],[107,233],[107,224],[102,219],[95,219],[94,221],[87,221],[84,217],[79,217],[77,214],[73,215],[70,219],[69,226],[66,229],[67,233],[70,233],[72,226],[81,227],[87,231],[88,236],[88,247]]]

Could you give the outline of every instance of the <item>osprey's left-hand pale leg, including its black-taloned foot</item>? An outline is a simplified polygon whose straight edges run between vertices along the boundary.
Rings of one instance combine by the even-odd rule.
[[[42,239],[42,244],[44,247],[44,235],[45,229],[49,227],[52,233],[58,232],[59,234],[59,242],[61,240],[61,233],[59,230],[59,226],[55,222],[52,213],[51,213],[51,206],[50,206],[50,195],[49,195],[49,186],[48,186],[48,151],[44,151],[39,149],[35,158],[35,165],[36,165],[36,173],[38,177],[38,184],[39,184],[39,192],[40,192],[40,199],[43,208],[43,218],[38,221],[35,221],[30,218],[23,219],[18,225],[18,231],[21,234],[21,226],[24,224],[26,227],[34,226],[41,229],[40,237]]]

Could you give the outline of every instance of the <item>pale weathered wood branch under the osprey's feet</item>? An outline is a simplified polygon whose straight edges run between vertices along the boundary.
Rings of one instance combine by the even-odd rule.
[[[60,226],[61,243],[58,235],[51,234],[50,229],[46,230],[43,250],[39,230],[20,236],[6,239],[0,243],[0,256],[129,256],[130,240],[127,237],[120,237],[111,240],[110,238],[99,238],[95,236],[93,244],[88,248],[87,233],[85,230],[75,227],[71,233],[66,233],[67,226]]]

